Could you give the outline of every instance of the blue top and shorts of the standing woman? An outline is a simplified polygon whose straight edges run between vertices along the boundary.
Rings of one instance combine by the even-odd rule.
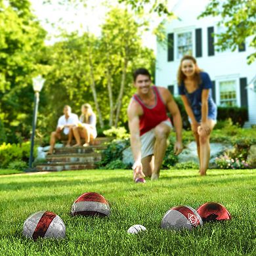
[[[186,87],[184,82],[182,81],[181,85],[179,85],[179,95],[186,95],[188,98],[188,102],[192,108],[196,121],[201,123],[202,120],[202,91],[203,89],[210,89],[209,96],[208,96],[208,119],[217,120],[217,106],[213,101],[213,97],[211,95],[211,88],[213,87],[211,83],[211,79],[209,75],[205,72],[200,72],[200,78],[202,83],[198,86],[198,89],[193,93],[188,93],[186,91]],[[188,118],[190,123],[191,120]]]

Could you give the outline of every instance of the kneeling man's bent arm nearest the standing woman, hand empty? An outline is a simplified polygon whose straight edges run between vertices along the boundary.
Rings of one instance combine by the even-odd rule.
[[[169,90],[165,89],[166,106],[171,116],[173,116],[173,125],[176,131],[175,154],[179,155],[182,152],[182,119],[180,110],[173,99],[173,95]]]

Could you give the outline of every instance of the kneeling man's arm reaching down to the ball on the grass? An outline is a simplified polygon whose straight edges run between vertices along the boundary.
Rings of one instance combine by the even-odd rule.
[[[131,133],[131,150],[133,152],[133,159],[135,163],[133,164],[134,176],[135,179],[137,176],[144,177],[144,173],[142,171],[142,163],[141,163],[141,143],[140,143],[140,129],[139,129],[139,111],[137,106],[133,101],[129,104],[128,110],[128,122],[129,122],[129,130]]]

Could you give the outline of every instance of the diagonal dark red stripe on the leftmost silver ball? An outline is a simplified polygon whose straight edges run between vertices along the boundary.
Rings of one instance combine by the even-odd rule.
[[[43,238],[45,236],[45,233],[47,232],[47,229],[49,228],[50,224],[52,223],[53,219],[56,217],[55,213],[52,213],[51,211],[45,211],[43,213],[43,216],[41,217],[40,221],[37,223],[37,226],[35,227],[35,231],[33,232],[33,240],[37,240],[39,236]]]

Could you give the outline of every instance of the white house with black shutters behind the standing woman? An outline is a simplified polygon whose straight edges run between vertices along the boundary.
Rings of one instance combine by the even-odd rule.
[[[223,31],[217,26],[219,18],[198,16],[209,1],[179,0],[173,12],[177,19],[165,22],[166,45],[158,43],[156,57],[156,85],[168,87],[178,94],[177,70],[184,54],[192,54],[198,66],[213,81],[213,98],[218,106],[246,106],[248,125],[256,124],[256,62],[248,65],[246,57],[255,49],[247,40],[242,49],[218,52],[212,33]]]

